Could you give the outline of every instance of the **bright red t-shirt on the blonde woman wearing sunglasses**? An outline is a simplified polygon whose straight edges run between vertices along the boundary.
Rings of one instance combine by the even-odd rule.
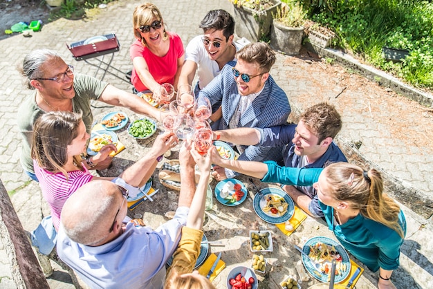
[[[151,53],[149,48],[142,46],[141,41],[138,39],[129,49],[131,59],[134,59],[134,57],[143,57],[146,60],[149,72],[158,84],[174,84],[174,75],[176,75],[177,71],[177,61],[185,53],[181,37],[174,32],[167,32],[167,35],[170,39],[170,46],[167,54],[163,57],[158,57],[154,55],[154,53]],[[135,68],[132,68],[131,82],[138,91],[149,89],[142,84]]]

